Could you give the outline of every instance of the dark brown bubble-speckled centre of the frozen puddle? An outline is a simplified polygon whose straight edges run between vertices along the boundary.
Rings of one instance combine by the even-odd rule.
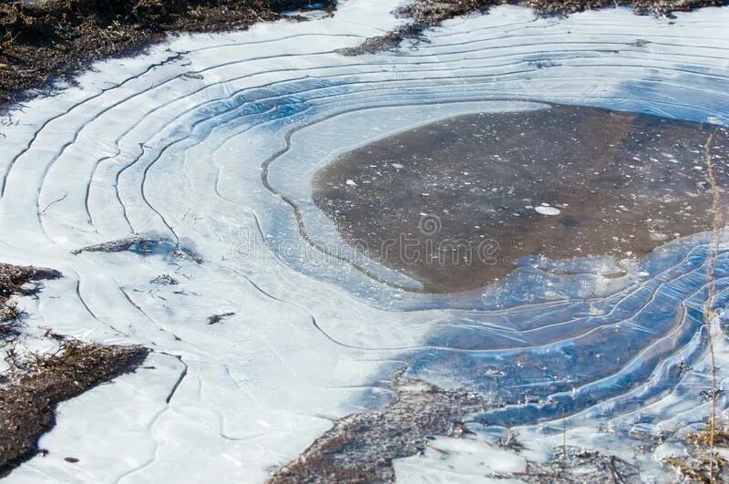
[[[727,186],[729,133],[712,125],[570,106],[460,116],[345,153],[313,200],[369,257],[453,293],[524,256],[642,257],[711,229],[710,135]]]

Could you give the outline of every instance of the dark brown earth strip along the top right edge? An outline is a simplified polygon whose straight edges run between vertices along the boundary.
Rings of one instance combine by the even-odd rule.
[[[673,15],[702,6],[727,5],[727,0],[413,0],[395,9],[407,22],[384,36],[367,39],[361,46],[341,49],[345,56],[397,48],[406,38],[417,38],[426,29],[449,18],[472,12],[487,13],[496,5],[524,5],[537,15],[569,15],[596,8],[629,5],[639,15]]]

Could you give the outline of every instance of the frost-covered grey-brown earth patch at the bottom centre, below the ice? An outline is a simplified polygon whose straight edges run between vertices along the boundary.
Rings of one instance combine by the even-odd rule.
[[[270,484],[392,482],[392,460],[425,450],[433,436],[458,437],[462,419],[486,409],[481,396],[395,377],[395,400],[381,412],[338,420]]]

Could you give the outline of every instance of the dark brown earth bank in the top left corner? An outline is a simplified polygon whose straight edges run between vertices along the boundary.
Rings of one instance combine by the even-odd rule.
[[[329,4],[329,2],[326,2]],[[95,59],[128,54],[169,31],[246,28],[308,0],[0,0],[0,111]]]

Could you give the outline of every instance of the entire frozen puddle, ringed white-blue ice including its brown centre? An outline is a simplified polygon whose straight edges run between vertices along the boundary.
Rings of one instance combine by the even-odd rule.
[[[393,6],[176,37],[4,120],[0,260],[65,276],[24,301],[28,332],[155,350],[62,405],[10,481],[262,482],[382,408],[404,367],[488,402],[479,438],[512,427],[536,459],[567,426],[660,476],[636,436],[708,415],[703,147],[713,132],[724,183],[729,10],[504,6],[399,52],[335,52]],[[395,233],[498,242],[500,264],[385,261]],[[523,469],[442,442],[455,460],[420,461],[436,476]]]

